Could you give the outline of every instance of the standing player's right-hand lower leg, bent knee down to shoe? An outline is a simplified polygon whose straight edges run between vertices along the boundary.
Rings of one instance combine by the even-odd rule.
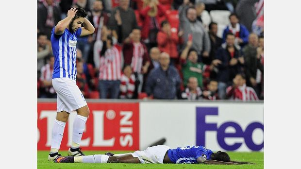
[[[77,116],[73,122],[72,144],[68,151],[69,156],[81,156],[84,155],[80,150],[80,142],[84,133],[85,123],[89,116],[89,107],[85,105],[76,110]]]

